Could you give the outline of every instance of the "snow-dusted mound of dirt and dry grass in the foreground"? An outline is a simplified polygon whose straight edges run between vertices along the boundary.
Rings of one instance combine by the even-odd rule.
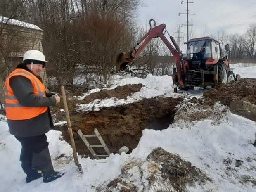
[[[187,185],[211,181],[199,168],[179,155],[154,149],[146,161],[135,159],[124,165],[118,178],[97,187],[98,192],[186,192]]]

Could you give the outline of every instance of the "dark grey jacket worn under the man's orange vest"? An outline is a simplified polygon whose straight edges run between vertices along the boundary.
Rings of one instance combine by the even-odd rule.
[[[29,71],[26,66],[22,64],[18,65],[17,68]],[[31,71],[29,72],[31,73]],[[38,77],[38,79],[40,79],[40,77]],[[24,76],[14,76],[10,78],[9,82],[14,95],[21,105],[26,107],[48,107],[45,113],[31,119],[8,119],[7,122],[10,133],[18,137],[30,137],[43,135],[53,128],[49,106],[56,105],[56,100],[51,97],[52,94],[46,94],[47,97],[33,95],[33,85],[31,81]]]

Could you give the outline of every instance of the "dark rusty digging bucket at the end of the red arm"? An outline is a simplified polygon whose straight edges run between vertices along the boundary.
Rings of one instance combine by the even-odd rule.
[[[133,54],[135,53],[135,49],[133,48],[128,53],[121,52],[116,56],[116,70],[121,71],[126,69],[126,65],[135,59]]]

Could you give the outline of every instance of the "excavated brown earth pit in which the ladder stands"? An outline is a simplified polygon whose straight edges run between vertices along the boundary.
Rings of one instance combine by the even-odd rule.
[[[130,150],[134,149],[145,128],[151,128],[153,125],[158,130],[168,128],[173,122],[175,106],[182,100],[155,97],[132,104],[102,108],[100,111],[90,113],[72,112],[70,118],[77,151],[79,154],[90,155],[76,132],[80,129],[83,134],[93,134],[94,128],[100,132],[111,153],[117,153],[122,146],[127,146]],[[63,120],[63,114],[57,118]],[[67,127],[57,127],[57,130],[61,130],[64,140],[69,142]],[[89,140],[90,144],[99,145],[95,140],[95,138]],[[97,149],[96,153],[102,154],[103,151]]]

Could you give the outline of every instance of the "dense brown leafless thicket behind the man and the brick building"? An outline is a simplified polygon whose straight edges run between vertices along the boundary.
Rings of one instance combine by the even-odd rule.
[[[88,71],[107,80],[116,53],[134,44],[133,18],[140,5],[141,0],[26,0],[14,18],[44,30],[43,50],[53,63],[47,73],[72,85],[78,74],[90,76]]]

